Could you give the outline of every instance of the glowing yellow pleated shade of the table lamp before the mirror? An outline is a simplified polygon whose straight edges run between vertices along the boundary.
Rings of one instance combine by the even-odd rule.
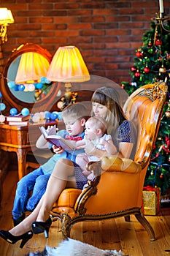
[[[47,80],[63,83],[90,80],[88,68],[82,59],[80,50],[75,46],[58,48],[47,72]]]

